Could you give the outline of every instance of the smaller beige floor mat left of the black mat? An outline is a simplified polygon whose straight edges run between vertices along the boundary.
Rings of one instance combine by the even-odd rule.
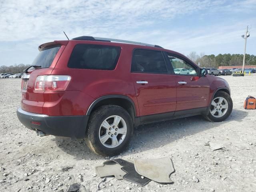
[[[116,179],[120,180],[126,174],[121,168],[120,164],[109,160],[105,161],[102,165],[96,166],[95,171],[99,177],[115,176]]]

